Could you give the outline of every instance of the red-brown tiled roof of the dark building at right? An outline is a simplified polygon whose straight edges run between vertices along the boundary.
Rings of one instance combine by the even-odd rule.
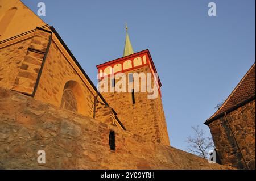
[[[222,106],[205,122],[205,124],[209,124],[223,113],[230,112],[251,99],[255,99],[255,62]]]

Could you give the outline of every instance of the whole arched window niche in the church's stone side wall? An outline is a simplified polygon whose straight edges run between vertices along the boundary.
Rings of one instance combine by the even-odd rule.
[[[65,83],[60,107],[83,115],[88,111],[84,92],[78,82]]]

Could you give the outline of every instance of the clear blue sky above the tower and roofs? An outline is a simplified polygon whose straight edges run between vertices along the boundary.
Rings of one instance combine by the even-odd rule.
[[[95,65],[122,57],[125,22],[134,51],[149,49],[162,81],[171,145],[186,149],[193,125],[210,117],[255,61],[255,0],[35,1],[96,84]],[[217,16],[208,16],[215,2]]]

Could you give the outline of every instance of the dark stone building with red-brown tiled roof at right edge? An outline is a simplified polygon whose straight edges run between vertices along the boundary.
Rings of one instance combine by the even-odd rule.
[[[255,63],[205,124],[222,165],[255,169]]]

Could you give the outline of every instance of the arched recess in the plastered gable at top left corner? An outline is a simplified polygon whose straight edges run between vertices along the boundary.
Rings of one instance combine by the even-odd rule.
[[[12,7],[5,12],[5,15],[3,15],[2,19],[0,20],[0,37],[6,31],[17,10],[18,9],[16,7]]]

